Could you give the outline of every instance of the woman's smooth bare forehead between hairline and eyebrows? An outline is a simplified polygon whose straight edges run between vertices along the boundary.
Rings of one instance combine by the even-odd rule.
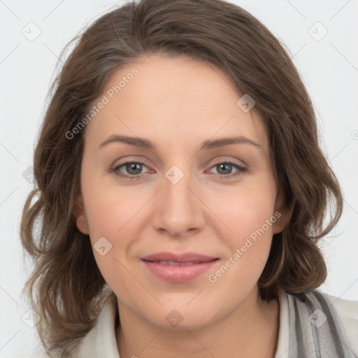
[[[246,113],[238,106],[241,96],[212,64],[152,55],[110,76],[94,101],[106,97],[106,105],[87,125],[85,137],[98,146],[112,134],[126,134],[178,150],[176,145],[240,135],[265,148],[262,120],[255,107]]]

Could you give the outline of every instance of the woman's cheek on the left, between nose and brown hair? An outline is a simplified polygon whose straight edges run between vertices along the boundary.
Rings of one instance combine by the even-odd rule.
[[[127,267],[131,248],[141,238],[141,225],[148,221],[143,215],[148,215],[149,206],[145,203],[152,195],[148,189],[104,185],[100,177],[85,177],[85,171],[83,175],[82,189],[94,258],[103,278],[114,287],[117,280],[127,277],[124,266]]]

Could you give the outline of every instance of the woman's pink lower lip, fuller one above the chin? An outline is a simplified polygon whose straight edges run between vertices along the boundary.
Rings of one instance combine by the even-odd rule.
[[[142,260],[149,271],[154,273],[157,277],[176,283],[194,280],[194,278],[197,278],[208,271],[217,261],[218,260],[215,259],[210,262],[200,262],[199,264],[186,266],[169,266]]]

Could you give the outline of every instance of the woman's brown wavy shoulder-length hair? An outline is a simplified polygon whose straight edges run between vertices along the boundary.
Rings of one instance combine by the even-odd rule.
[[[90,239],[73,215],[85,128],[71,139],[66,133],[83,120],[115,71],[155,52],[222,69],[238,93],[255,100],[266,125],[289,220],[273,236],[258,282],[262,299],[276,297],[279,287],[299,296],[324,282],[327,267],[317,242],[341,216],[341,189],[320,150],[299,73],[261,22],[221,0],[142,0],[111,10],[73,41],[49,93],[34,153],[35,189],[21,222],[22,245],[34,259],[25,289],[41,315],[37,327],[48,353],[69,355],[108,296]]]

